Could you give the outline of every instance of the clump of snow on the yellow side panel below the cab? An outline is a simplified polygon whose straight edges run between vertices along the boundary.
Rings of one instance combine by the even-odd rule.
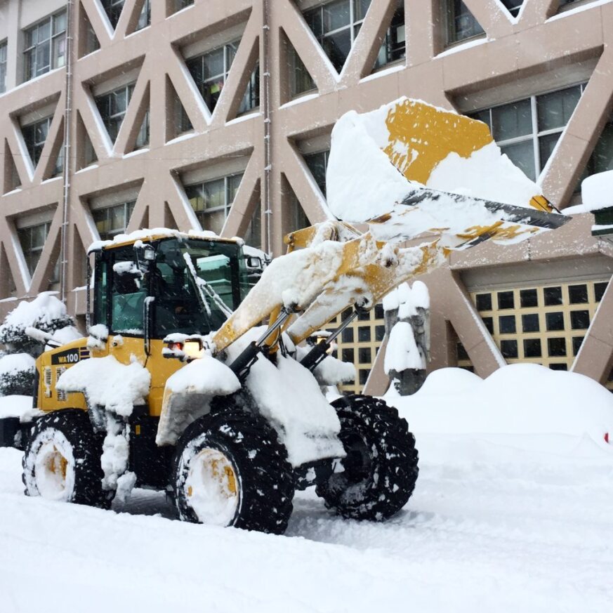
[[[57,389],[82,392],[89,407],[102,407],[128,417],[135,404],[144,404],[150,383],[150,372],[138,362],[121,364],[114,356],[107,355],[74,364],[60,376]]]

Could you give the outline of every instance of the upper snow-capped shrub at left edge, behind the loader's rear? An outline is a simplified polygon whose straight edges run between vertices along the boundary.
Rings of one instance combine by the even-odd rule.
[[[0,325],[0,343],[11,353],[40,355],[44,347],[25,334],[29,326],[53,334],[62,328],[74,326],[74,321],[67,314],[66,306],[53,296],[53,292],[45,291],[32,302],[19,303],[6,315]]]

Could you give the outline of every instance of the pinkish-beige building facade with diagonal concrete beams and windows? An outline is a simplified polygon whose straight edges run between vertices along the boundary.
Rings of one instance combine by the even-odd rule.
[[[283,253],[329,217],[336,119],[401,95],[487,121],[551,202],[576,204],[613,168],[612,44],[611,0],[0,1],[0,315],[53,289],[82,317],[86,247],[119,232]],[[532,361],[606,383],[613,253],[591,223],[428,275],[433,368]],[[382,324],[339,343],[349,390],[385,385]]]

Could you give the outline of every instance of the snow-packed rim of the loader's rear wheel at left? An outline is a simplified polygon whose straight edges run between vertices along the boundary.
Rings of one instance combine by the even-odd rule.
[[[74,490],[72,450],[60,433],[45,438],[34,462],[38,492],[49,500],[70,501]]]

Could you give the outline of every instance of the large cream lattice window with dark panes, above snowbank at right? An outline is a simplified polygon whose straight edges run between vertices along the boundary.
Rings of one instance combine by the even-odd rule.
[[[581,348],[607,279],[474,291],[485,327],[508,362],[568,370]],[[458,365],[471,367],[461,343]]]

